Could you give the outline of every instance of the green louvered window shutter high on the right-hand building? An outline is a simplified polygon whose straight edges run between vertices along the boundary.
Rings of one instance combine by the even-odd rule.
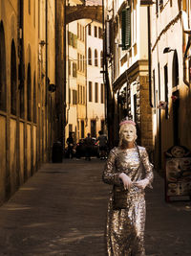
[[[122,50],[127,50],[131,47],[131,7],[122,11]]]

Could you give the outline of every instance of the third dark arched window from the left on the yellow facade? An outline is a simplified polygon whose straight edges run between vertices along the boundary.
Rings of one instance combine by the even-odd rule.
[[[27,70],[27,119],[32,121],[32,79],[31,64],[28,64]]]

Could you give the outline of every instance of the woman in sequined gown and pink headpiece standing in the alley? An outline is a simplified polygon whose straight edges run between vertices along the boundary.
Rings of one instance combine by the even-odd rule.
[[[133,121],[120,123],[119,144],[109,153],[103,181],[113,185],[107,216],[109,256],[144,256],[145,198],[151,187],[153,166],[145,148],[136,144]]]

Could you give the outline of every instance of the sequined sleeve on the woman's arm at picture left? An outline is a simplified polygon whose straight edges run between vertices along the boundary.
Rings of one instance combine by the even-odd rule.
[[[102,180],[103,182],[107,184],[116,184],[120,185],[121,184],[121,179],[119,178],[120,174],[116,173],[116,153],[115,149],[110,151],[107,162],[105,164],[103,174],[102,174]]]

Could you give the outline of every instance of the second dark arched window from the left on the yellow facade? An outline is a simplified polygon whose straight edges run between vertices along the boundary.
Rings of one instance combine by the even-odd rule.
[[[16,51],[11,42],[11,114],[16,115]]]

